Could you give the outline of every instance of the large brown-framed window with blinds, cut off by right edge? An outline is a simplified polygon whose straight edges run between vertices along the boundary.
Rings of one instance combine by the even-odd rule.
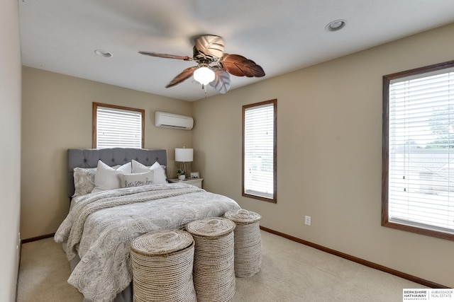
[[[454,240],[454,61],[383,77],[382,226]]]

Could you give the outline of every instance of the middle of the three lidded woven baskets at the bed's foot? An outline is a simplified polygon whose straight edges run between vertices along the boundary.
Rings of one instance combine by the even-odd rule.
[[[212,217],[188,223],[195,241],[194,288],[199,302],[231,301],[235,295],[235,223]]]

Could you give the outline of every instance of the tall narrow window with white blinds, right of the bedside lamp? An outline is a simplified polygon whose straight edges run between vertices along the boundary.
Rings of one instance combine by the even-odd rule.
[[[276,199],[277,100],[243,106],[243,196]]]

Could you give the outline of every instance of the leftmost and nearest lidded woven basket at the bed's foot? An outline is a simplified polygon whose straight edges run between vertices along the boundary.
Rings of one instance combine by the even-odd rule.
[[[153,231],[133,240],[133,301],[196,302],[194,239],[180,230]]]

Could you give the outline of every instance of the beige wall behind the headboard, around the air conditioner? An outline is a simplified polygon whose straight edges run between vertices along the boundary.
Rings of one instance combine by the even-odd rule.
[[[92,148],[92,102],[145,110],[145,148],[167,149],[175,175],[176,147],[192,132],[154,126],[154,112],[191,115],[191,103],[23,67],[21,237],[57,231],[69,209],[66,150]]]

